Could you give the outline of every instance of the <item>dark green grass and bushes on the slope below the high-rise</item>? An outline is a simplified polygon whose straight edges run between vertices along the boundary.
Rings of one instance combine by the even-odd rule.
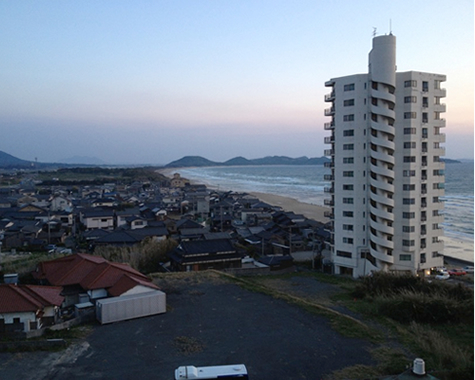
[[[297,277],[314,278],[335,285],[340,291],[304,294]],[[256,284],[246,288],[276,298],[287,293],[288,302],[311,312],[322,313],[316,304],[340,312],[344,308],[370,329],[366,338],[355,335],[364,330],[361,323],[329,315],[340,333],[376,342],[372,356],[378,362],[374,367],[345,368],[328,376],[329,380],[381,379],[400,374],[416,357],[423,358],[426,371],[439,379],[473,379],[473,290],[465,285],[429,282],[411,275],[375,273],[353,280],[315,272],[246,277],[246,282]],[[302,302],[297,302],[297,297]],[[309,302],[314,307],[309,308]]]

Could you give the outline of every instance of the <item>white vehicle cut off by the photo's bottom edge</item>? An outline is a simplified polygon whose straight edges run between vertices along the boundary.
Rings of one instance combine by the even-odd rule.
[[[185,379],[249,379],[244,364],[218,365],[211,367],[195,367],[192,365],[178,367],[175,370],[175,380]]]

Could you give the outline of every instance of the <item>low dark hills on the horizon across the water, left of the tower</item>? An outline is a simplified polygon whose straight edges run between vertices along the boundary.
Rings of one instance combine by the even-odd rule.
[[[225,162],[214,162],[200,156],[185,156],[165,165],[166,168],[204,167],[204,166],[245,166],[245,165],[323,165],[329,162],[327,157],[298,157],[267,156],[249,160],[244,157],[235,157]]]

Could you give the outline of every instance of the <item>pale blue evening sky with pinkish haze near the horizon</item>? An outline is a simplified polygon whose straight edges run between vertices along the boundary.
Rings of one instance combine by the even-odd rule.
[[[446,157],[473,158],[472,0],[0,2],[0,150],[24,160],[166,164],[321,157],[331,78],[445,74]],[[375,29],[376,28],[376,29]]]

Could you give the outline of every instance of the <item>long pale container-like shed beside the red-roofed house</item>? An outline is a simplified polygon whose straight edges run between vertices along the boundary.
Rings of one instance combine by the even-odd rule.
[[[96,318],[101,324],[165,313],[165,293],[152,292],[104,298],[96,301]]]

